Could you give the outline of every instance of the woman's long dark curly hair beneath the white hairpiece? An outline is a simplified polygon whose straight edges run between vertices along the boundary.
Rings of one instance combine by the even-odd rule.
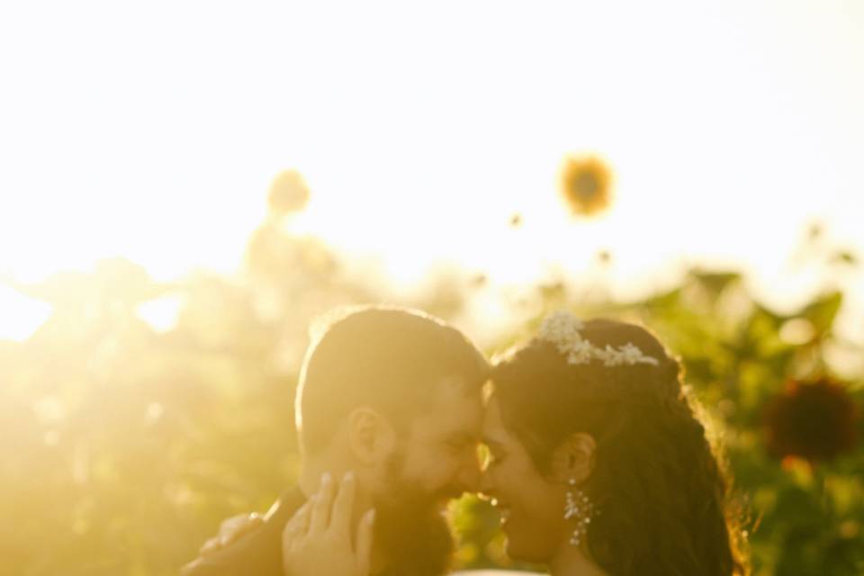
[[[730,485],[680,364],[632,324],[590,320],[580,332],[600,348],[632,343],[660,364],[571,365],[535,338],[497,363],[491,380],[505,426],[541,473],[567,437],[594,437],[582,487],[601,511],[588,533],[594,562],[611,576],[749,573]]]

